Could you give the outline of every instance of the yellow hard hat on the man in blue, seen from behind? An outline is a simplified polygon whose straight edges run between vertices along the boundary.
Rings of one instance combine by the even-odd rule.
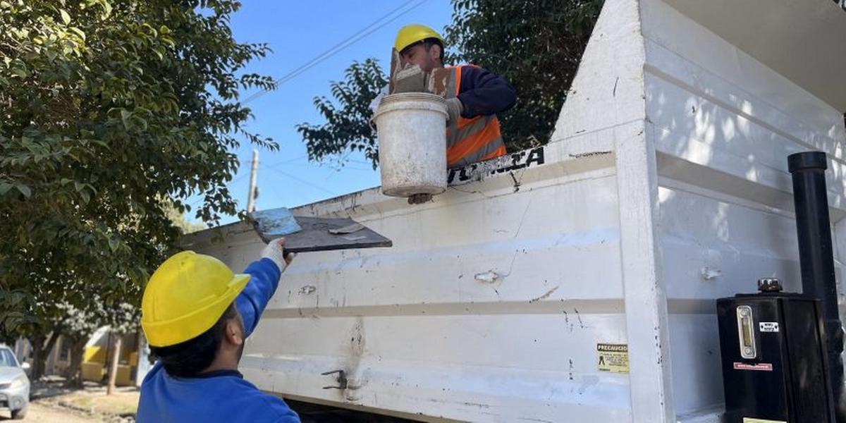
[[[214,326],[250,275],[234,274],[211,255],[182,251],[150,277],[141,299],[141,327],[154,347],[196,338]]]

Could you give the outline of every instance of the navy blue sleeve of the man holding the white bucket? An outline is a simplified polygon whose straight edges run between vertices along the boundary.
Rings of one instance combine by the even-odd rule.
[[[514,106],[517,93],[502,76],[475,66],[461,68],[459,100],[464,118],[500,113]]]

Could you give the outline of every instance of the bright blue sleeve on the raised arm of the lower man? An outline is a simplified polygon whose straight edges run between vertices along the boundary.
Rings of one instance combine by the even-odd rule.
[[[244,331],[246,332],[244,338],[246,338],[253,332],[255,325],[259,323],[261,313],[273,293],[276,292],[282,272],[279,272],[279,267],[271,259],[262,258],[250,263],[244,273],[250,275],[250,282],[235,299],[235,307],[238,308],[238,312],[244,319]]]

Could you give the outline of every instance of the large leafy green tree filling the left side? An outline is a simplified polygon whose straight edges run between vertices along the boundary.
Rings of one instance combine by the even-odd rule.
[[[243,74],[265,56],[228,27],[233,0],[0,1],[0,335],[47,333],[94,298],[137,304],[179,236],[173,206],[235,214],[229,151]],[[92,296],[96,293],[96,297]]]

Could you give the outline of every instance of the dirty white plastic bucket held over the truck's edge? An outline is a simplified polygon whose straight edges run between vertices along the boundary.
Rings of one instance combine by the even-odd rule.
[[[374,119],[382,194],[409,197],[447,190],[447,102],[441,96],[423,92],[385,96]]]

